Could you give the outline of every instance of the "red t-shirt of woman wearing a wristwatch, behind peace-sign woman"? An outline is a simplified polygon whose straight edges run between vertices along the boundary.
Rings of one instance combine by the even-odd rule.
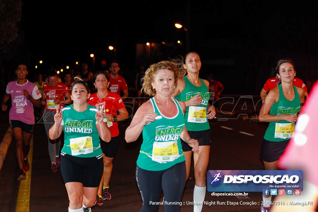
[[[112,116],[117,115],[117,110],[125,107],[121,97],[118,94],[113,92],[108,92],[108,95],[101,99],[97,97],[97,92],[93,93],[88,99],[88,104],[94,107],[98,105],[99,108],[105,105],[103,113],[110,114]],[[106,119],[104,119],[104,121],[106,122]],[[110,121],[110,122],[107,122],[107,125],[112,133],[112,137],[119,135],[117,122]]]

